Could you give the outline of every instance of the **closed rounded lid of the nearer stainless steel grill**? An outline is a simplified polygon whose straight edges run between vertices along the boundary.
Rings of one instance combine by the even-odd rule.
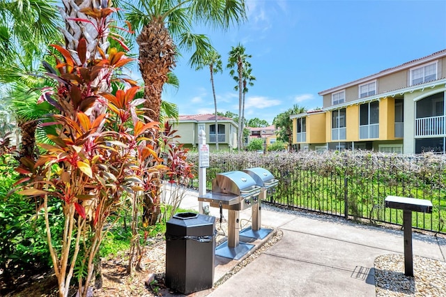
[[[216,174],[212,181],[212,191],[245,197],[247,195],[259,194],[260,187],[249,174],[233,171]]]

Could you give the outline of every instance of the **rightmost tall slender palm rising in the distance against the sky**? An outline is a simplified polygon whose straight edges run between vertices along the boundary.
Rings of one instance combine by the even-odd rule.
[[[243,123],[242,123],[242,107],[243,107],[243,69],[248,58],[251,55],[245,54],[245,47],[240,43],[236,47],[231,47],[229,52],[228,65],[226,68],[231,68],[229,75],[238,81],[238,86],[234,89],[238,90],[238,151],[242,147],[243,139]],[[236,72],[237,71],[237,72]]]

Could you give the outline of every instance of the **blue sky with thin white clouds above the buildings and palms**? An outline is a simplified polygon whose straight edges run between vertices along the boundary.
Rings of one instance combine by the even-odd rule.
[[[446,48],[446,1],[247,0],[248,22],[226,33],[206,29],[222,55],[215,75],[217,109],[238,114],[236,82],[225,68],[231,46],[252,54],[254,86],[246,95],[245,118],[274,117],[294,104],[322,107],[318,92]],[[183,55],[163,100],[180,114],[213,113],[209,70],[196,71]]]

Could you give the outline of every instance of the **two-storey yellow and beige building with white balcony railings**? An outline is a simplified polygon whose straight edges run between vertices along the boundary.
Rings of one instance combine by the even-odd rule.
[[[318,94],[321,110],[291,116],[298,149],[445,152],[446,50]]]

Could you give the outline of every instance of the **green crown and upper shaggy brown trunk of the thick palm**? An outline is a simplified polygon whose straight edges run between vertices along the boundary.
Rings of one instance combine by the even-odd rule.
[[[128,2],[125,19],[140,31],[139,69],[144,79],[146,116],[158,121],[162,87],[176,66],[179,50],[192,52],[192,67],[203,64],[206,52],[213,50],[203,34],[192,33],[194,24],[227,29],[246,19],[244,0],[141,0]]]

